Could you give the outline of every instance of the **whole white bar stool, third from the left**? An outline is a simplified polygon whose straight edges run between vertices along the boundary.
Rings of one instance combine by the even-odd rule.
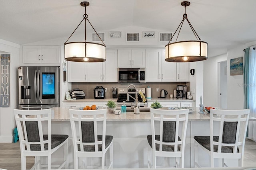
[[[184,148],[188,125],[188,111],[188,109],[150,109],[152,135],[147,136],[149,144],[148,168],[156,168],[156,156],[174,157],[176,160],[175,167],[184,168]],[[158,122],[160,122],[160,130],[156,131],[156,123]],[[182,132],[179,136],[179,125],[182,122]],[[151,151],[152,164],[150,161]]]

